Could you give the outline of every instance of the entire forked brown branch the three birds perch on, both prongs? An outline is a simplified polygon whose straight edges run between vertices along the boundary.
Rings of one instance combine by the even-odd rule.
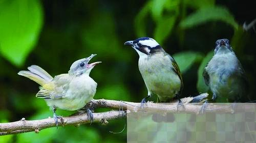
[[[182,98],[182,102],[184,103],[183,109],[179,111],[185,111],[187,113],[198,113],[201,109],[202,105],[196,104],[187,104],[189,102],[203,102],[207,98],[208,94],[204,93],[198,95],[196,97],[186,97]],[[146,105],[143,107],[144,111],[154,111],[154,112],[177,112],[177,103],[178,101],[174,101],[174,103],[153,103],[147,102]],[[119,109],[119,110],[111,110],[101,113],[93,113],[94,123],[102,123],[108,124],[109,120],[116,120],[120,118],[124,118],[127,113],[130,112],[137,112],[141,110],[140,103],[134,102],[126,102],[126,101],[116,101],[116,100],[92,100],[87,104],[88,108],[111,108],[111,109]],[[207,112],[232,112],[230,108],[223,108],[221,105],[208,105]],[[209,110],[214,109],[214,110]],[[64,124],[66,125],[80,125],[80,124],[88,124],[90,120],[88,119],[87,113],[82,115],[70,116],[70,117],[63,117]],[[59,122],[59,125],[61,123]],[[35,131],[38,133],[42,129],[56,127],[53,118],[42,119],[42,120],[33,120],[27,121],[23,118],[20,121],[11,122],[11,123],[0,123],[0,135],[6,134],[16,134],[16,133],[24,133]]]

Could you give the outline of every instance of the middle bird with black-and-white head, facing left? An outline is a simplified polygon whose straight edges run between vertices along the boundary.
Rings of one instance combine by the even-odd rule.
[[[157,95],[161,102],[169,102],[180,95],[183,81],[178,64],[174,58],[153,38],[141,37],[126,41],[124,45],[132,46],[139,54],[139,71],[147,88],[147,96],[141,100],[141,107],[152,95]]]

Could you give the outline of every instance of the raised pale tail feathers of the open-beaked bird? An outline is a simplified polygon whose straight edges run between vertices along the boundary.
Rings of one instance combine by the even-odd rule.
[[[19,71],[18,75],[25,76],[40,84],[41,86],[52,81],[53,79],[53,77],[49,73],[47,73],[44,69],[40,68],[39,66],[32,65],[28,67],[28,70],[29,71]]]

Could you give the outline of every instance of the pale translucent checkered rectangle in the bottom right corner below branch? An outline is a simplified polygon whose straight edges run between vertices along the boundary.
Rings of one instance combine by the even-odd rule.
[[[127,116],[127,142],[255,142],[256,104],[238,104],[246,108],[233,114],[132,112]]]

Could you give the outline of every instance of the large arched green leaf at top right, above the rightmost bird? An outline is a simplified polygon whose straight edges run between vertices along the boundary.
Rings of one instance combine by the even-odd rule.
[[[180,26],[182,28],[190,28],[208,21],[223,21],[234,29],[238,28],[238,23],[234,20],[233,15],[229,13],[228,9],[221,6],[203,7],[183,19]]]

